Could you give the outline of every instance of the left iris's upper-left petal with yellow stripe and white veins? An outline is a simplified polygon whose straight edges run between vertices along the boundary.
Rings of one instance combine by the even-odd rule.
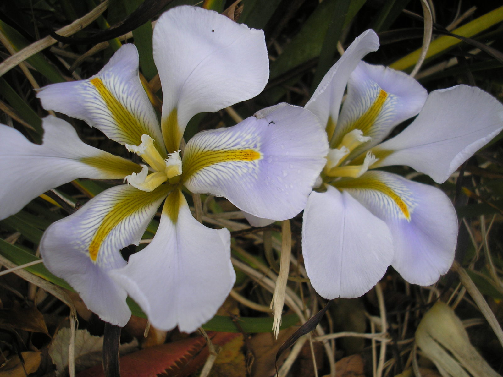
[[[82,119],[121,144],[138,145],[141,135],[165,153],[155,112],[138,76],[138,51],[122,46],[103,69],[87,80],[59,82],[38,93],[42,106]]]

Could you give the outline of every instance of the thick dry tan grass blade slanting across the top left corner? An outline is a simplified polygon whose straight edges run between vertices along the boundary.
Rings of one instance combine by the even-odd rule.
[[[56,33],[63,36],[68,37],[70,35],[75,34],[76,32],[82,30],[89,24],[91,24],[94,20],[96,20],[108,7],[109,0],[104,0],[98,7],[93,9],[87,15],[73,21],[70,25],[66,25],[61,29],[57,30]],[[7,58],[0,64],[0,77],[3,76],[6,72],[14,68],[19,63],[25,61],[29,57],[35,55],[37,52],[42,51],[44,48],[52,46],[57,41],[51,36],[47,36],[38,40],[37,42],[32,43],[31,45],[19,50],[16,54]]]

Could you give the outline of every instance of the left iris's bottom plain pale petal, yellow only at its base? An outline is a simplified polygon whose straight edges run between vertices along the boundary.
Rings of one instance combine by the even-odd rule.
[[[230,233],[196,221],[176,190],[164,203],[152,242],[110,275],[156,328],[195,331],[215,315],[234,285]]]

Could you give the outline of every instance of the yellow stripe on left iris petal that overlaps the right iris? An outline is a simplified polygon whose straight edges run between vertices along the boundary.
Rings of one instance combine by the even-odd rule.
[[[198,150],[185,157],[182,180],[189,178],[207,166],[217,163],[259,160],[262,158],[262,153],[255,149]]]

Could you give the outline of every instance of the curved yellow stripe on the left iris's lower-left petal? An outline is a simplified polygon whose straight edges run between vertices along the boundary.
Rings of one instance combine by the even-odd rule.
[[[91,260],[96,262],[102,243],[121,221],[130,216],[135,216],[135,214],[141,212],[142,209],[152,202],[167,195],[172,188],[173,186],[164,184],[150,193],[134,190],[124,194],[119,200],[115,201],[91,240],[91,244],[89,245]]]

